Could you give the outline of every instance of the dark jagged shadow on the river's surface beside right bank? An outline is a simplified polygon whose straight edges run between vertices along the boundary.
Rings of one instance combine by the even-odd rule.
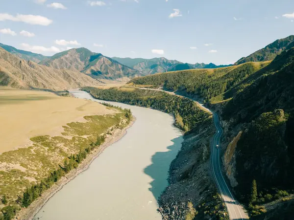
[[[167,173],[170,170],[172,160],[176,157],[182,146],[182,141],[182,136],[172,139],[173,145],[167,147],[169,151],[156,152],[153,154],[151,157],[152,164],[144,169],[144,173],[153,179],[153,181],[150,182],[151,187],[149,190],[156,200],[167,186]]]

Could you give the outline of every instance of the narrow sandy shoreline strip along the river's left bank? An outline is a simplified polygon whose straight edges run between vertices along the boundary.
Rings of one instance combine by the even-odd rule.
[[[22,208],[16,215],[17,220],[32,220],[34,216],[40,211],[40,209],[46,204],[46,202],[55,193],[62,189],[64,185],[74,179],[77,175],[87,170],[90,164],[110,145],[119,141],[125,134],[126,130],[130,128],[136,118],[133,116],[132,121],[123,130],[116,129],[111,136],[108,136],[105,142],[96,149],[92,154],[89,154],[87,158],[79,164],[77,169],[72,170],[66,176],[62,177],[57,183],[55,183],[50,189],[48,189],[40,198],[33,201],[28,208]]]

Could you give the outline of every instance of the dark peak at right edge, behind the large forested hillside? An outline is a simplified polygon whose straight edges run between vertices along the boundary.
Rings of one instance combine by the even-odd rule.
[[[243,64],[246,62],[270,61],[273,60],[278,54],[286,49],[294,46],[294,35],[287,38],[276,40],[275,42],[267,45],[266,47],[255,51],[247,57],[238,60],[235,65]]]

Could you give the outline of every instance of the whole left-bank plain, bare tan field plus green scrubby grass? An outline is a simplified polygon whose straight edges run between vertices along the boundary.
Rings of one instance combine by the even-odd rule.
[[[0,87],[0,198],[13,202],[127,120],[123,110],[97,102]]]

